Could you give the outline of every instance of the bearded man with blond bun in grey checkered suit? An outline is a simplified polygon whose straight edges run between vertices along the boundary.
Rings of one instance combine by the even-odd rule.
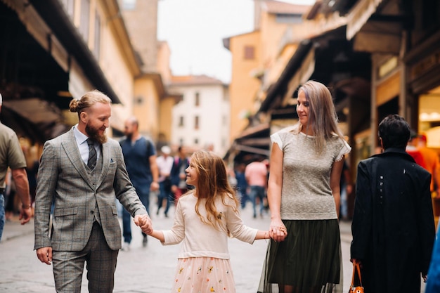
[[[35,199],[35,245],[53,263],[56,292],[80,292],[87,262],[89,292],[112,292],[121,229],[115,198],[147,230],[151,221],[127,174],[117,141],[105,136],[111,100],[100,91],[70,102],[78,124],[46,141]],[[50,228],[51,204],[54,203]]]

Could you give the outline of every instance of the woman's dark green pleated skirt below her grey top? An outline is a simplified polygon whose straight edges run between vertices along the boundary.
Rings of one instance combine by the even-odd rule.
[[[342,253],[339,223],[334,220],[283,220],[287,237],[271,240],[259,291],[293,293],[342,292]]]

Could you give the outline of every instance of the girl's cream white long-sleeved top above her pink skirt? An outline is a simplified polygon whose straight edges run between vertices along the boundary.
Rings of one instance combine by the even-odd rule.
[[[235,206],[235,202],[227,197],[226,204]],[[252,244],[257,236],[257,229],[245,226],[239,211],[234,211],[216,199],[216,209],[221,212],[221,227],[214,228],[210,223],[203,223],[195,212],[197,197],[193,193],[179,198],[171,230],[164,230],[162,245],[176,245],[183,241],[179,259],[188,257],[214,257],[229,259],[228,233],[243,242]],[[206,219],[205,200],[199,206],[199,212]]]

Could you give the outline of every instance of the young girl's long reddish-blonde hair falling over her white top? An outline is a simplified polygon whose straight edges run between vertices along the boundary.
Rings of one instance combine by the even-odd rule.
[[[214,152],[207,152],[206,150],[194,152],[191,156],[190,164],[193,165],[198,174],[198,183],[195,187],[195,193],[198,195],[195,212],[203,223],[211,223],[215,228],[219,228],[223,215],[216,209],[216,198],[221,197],[221,202],[226,206],[232,207],[235,211],[238,209],[239,204],[234,190],[228,182],[226,165],[221,157],[215,155]],[[233,200],[233,205],[226,203],[227,197]],[[205,199],[207,219],[204,219],[199,212],[199,205]]]

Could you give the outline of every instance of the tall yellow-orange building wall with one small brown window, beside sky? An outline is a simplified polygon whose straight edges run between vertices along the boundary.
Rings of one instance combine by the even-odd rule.
[[[260,32],[250,32],[231,37],[229,49],[232,55],[232,77],[229,86],[231,105],[230,141],[232,142],[248,124],[247,115],[253,112],[254,100],[260,82],[252,72],[260,64]],[[254,47],[254,59],[245,59],[245,47]]]

